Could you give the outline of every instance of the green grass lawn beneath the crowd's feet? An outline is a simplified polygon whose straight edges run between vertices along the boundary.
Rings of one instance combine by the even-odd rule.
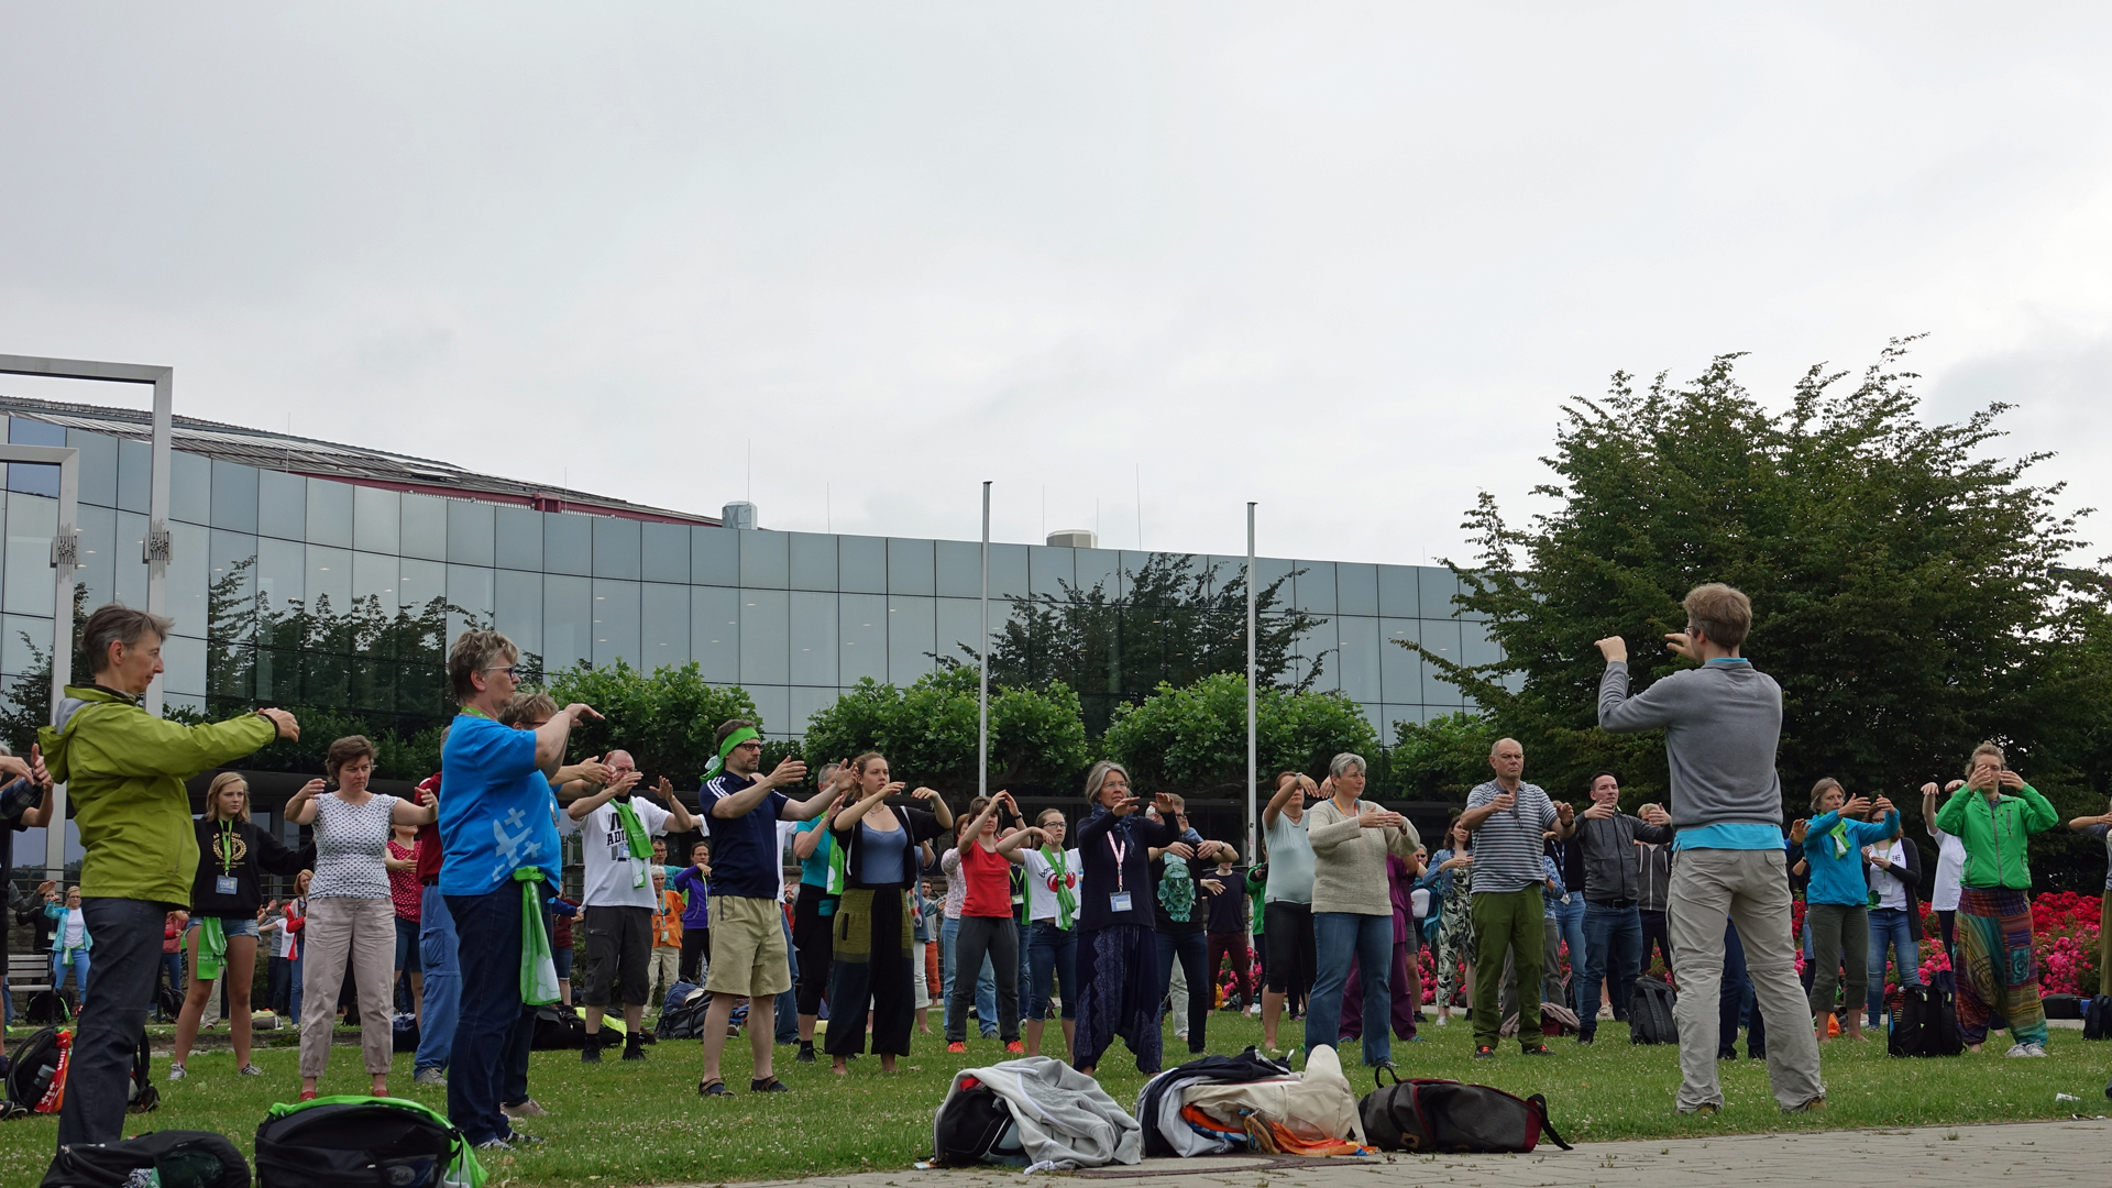
[[[1050,1029],[1056,1034],[1054,1027]],[[23,1032],[17,1029],[17,1036]],[[2004,1059],[1990,1053],[1947,1061],[1897,1061],[1878,1040],[1833,1042],[1825,1048],[1829,1110],[1818,1116],[1785,1116],[1768,1097],[1764,1061],[1740,1059],[1723,1068],[1728,1110],[1717,1118],[1673,1114],[1679,1082],[1675,1048],[1637,1048],[1620,1042],[1626,1027],[1607,1023],[1599,1044],[1578,1048],[1557,1040],[1554,1059],[1527,1061],[1516,1046],[1495,1061],[1472,1061],[1470,1036],[1462,1021],[1451,1027],[1426,1025],[1428,1042],[1396,1044],[1396,1059],[1411,1076],[1447,1076],[1495,1084],[1519,1095],[1546,1093],[1554,1125],[1565,1137],[1628,1139],[1704,1135],[1734,1131],[1789,1131],[1842,1127],[1903,1127],[1945,1122],[2006,1122],[2061,1118],[2070,1112],[2106,1110],[2106,1074],[2112,1044],[2095,1046],[2080,1032],[2055,1029],[2049,1059]],[[1212,1019],[1212,1051],[1236,1051],[1259,1042],[1257,1021],[1219,1015]],[[1168,1032],[1168,1055],[1181,1051]],[[532,1152],[498,1161],[492,1171],[505,1186],[695,1184],[727,1180],[771,1180],[786,1175],[906,1167],[929,1154],[931,1114],[957,1068],[995,1063],[995,1040],[976,1040],[965,1057],[948,1057],[938,1036],[919,1036],[917,1053],[902,1074],[883,1076],[872,1057],[851,1061],[849,1078],[834,1078],[826,1063],[790,1061],[779,1048],[777,1072],[794,1091],[750,1095],[748,1044],[727,1046],[727,1082],[733,1099],[697,1097],[699,1051],[695,1042],[653,1048],[653,1059],[625,1065],[610,1059],[583,1068],[577,1053],[536,1053],[532,1089],[549,1108],[522,1129],[549,1141]],[[1356,1055],[1352,1053],[1352,1059]],[[365,1076],[359,1053],[338,1046],[325,1093],[355,1093]],[[245,1152],[266,1106],[298,1091],[291,1048],[258,1051],[268,1076],[237,1078],[228,1053],[199,1053],[190,1078],[161,1082],[163,1108],[135,1116],[127,1133],[148,1129],[211,1129],[230,1135]],[[156,1078],[167,1061],[154,1061]],[[1136,1101],[1143,1076],[1117,1046],[1102,1063],[1102,1082],[1124,1106]],[[1352,1070],[1358,1091],[1369,1087]],[[410,1057],[397,1057],[391,1080],[397,1093],[446,1108],[446,1091],[410,1087]],[[2055,1101],[2072,1093],[2080,1101]],[[34,1184],[51,1158],[53,1118],[27,1118],[0,1127],[0,1184]]]

